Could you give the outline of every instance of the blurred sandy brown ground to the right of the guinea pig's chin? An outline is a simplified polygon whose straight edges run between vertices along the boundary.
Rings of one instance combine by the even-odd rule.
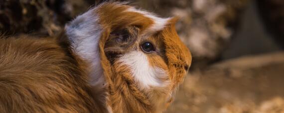
[[[190,72],[166,113],[284,113],[284,52]]]

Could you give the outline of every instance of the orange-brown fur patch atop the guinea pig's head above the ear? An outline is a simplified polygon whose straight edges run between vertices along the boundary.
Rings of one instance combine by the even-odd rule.
[[[137,26],[141,32],[153,24],[153,21],[137,12],[127,12],[128,5],[118,5],[117,3],[105,3],[96,12],[100,16],[100,24],[104,29],[113,32],[121,30],[126,26]]]

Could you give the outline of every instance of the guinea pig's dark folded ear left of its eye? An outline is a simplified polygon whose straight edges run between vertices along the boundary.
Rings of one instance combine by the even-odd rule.
[[[110,33],[110,36],[105,44],[104,52],[108,59],[115,58],[119,54],[123,54],[137,40],[139,28],[130,26],[123,29],[118,29]]]

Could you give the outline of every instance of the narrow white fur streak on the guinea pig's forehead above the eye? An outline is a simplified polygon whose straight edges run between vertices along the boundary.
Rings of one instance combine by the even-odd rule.
[[[134,7],[128,8],[127,11],[141,13],[145,17],[152,19],[154,21],[154,24],[149,28],[148,30],[149,32],[156,32],[156,31],[162,30],[164,26],[168,23],[168,20],[170,19],[170,18],[160,18],[156,16],[155,14],[152,14],[150,12],[143,11],[143,10],[138,10]]]

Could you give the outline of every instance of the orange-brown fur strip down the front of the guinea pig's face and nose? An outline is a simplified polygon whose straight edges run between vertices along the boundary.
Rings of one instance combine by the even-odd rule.
[[[161,37],[165,43],[165,55],[167,56],[167,66],[169,69],[169,79],[172,81],[172,89],[176,88],[183,81],[185,70],[191,64],[191,54],[188,48],[179,39],[175,22],[177,18],[169,21],[168,27],[161,32]]]

